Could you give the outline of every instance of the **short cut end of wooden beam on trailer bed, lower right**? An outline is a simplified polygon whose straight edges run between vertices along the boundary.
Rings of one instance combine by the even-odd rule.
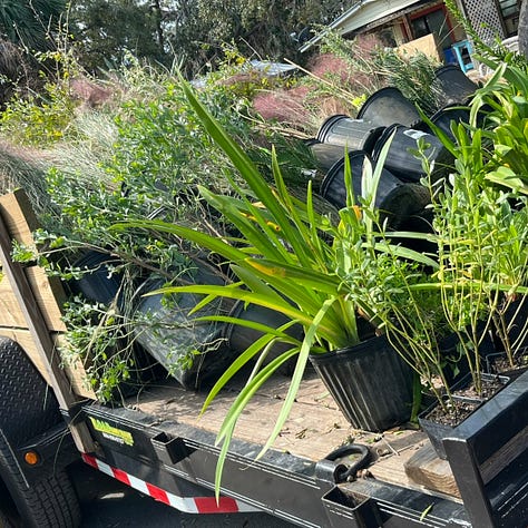
[[[447,460],[441,460],[427,441],[404,465],[409,479],[427,489],[460,498],[457,482]]]

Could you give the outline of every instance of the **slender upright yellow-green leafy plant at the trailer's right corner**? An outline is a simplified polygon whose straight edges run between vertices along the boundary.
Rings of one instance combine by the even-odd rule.
[[[470,124],[451,125],[453,139],[434,130],[454,156],[449,179],[431,184],[439,264],[434,276],[446,322],[469,371],[468,389],[475,402],[468,411],[508,381],[485,372],[487,355],[493,350],[489,335],[508,340],[508,332],[502,332],[507,329],[503,317],[511,301],[527,292],[526,196],[515,179],[515,185],[508,186],[507,180],[497,178],[505,159],[493,150],[496,128],[499,121],[502,128],[508,121],[498,119],[495,106],[485,108],[483,101],[488,97],[491,101],[492,94],[489,86],[477,91],[470,105]],[[514,100],[498,100],[515,105]],[[443,424],[431,437],[441,458],[446,457],[442,436],[452,434],[457,420],[465,417],[454,405],[454,388],[448,388],[442,401]],[[430,420],[422,419],[421,423],[428,428]]]

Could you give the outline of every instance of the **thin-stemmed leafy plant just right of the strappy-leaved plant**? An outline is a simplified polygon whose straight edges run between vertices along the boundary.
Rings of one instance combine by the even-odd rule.
[[[409,155],[420,156],[427,148],[419,139],[417,150]],[[430,169],[427,159],[424,168]],[[459,335],[453,334],[442,304],[438,252],[418,257],[407,247],[409,242],[412,246],[421,241],[434,248],[439,237],[436,233],[388,231],[380,224],[379,212],[364,199],[358,211],[363,216],[361,224],[368,226],[366,236],[354,239],[350,221],[340,226],[334,236],[334,246],[342,256],[336,273],[349,299],[369,306],[378,332],[383,333],[420,381],[414,385],[414,420],[420,411],[422,389],[443,404],[444,394],[449,395],[460,369]],[[343,215],[345,211],[340,213]]]

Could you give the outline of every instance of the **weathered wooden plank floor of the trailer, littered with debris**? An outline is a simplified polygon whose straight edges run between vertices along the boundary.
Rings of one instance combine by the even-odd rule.
[[[256,444],[266,442],[287,385],[289,378],[283,375],[268,380],[238,421],[235,431],[237,439]],[[241,387],[242,383],[233,383],[204,414],[201,414],[201,409],[207,392],[185,390],[176,380],[168,379],[146,385],[137,394],[129,397],[125,404],[160,420],[216,433]],[[383,433],[352,428],[322,381],[310,370],[304,377],[290,419],[273,449],[317,461],[340,446],[351,442],[370,448],[373,458],[368,468],[370,477],[426,492],[458,497],[449,463],[436,457],[423,432],[410,424]]]

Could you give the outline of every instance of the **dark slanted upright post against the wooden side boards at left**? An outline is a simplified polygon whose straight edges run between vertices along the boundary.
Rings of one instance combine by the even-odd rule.
[[[23,273],[22,267],[11,261],[12,242],[2,215],[3,212],[0,211],[0,258],[3,273],[6,273],[9,278],[20,310],[26,317],[26,323],[31,333],[37,351],[41,356],[42,364],[46,366],[42,374],[47,374],[59,405],[62,409],[70,409],[78,401],[78,397],[71,390],[69,380],[60,366],[60,361],[55,351],[53,341],[27,276]],[[70,427],[70,430],[76,446],[80,451],[95,451],[96,446],[94,444],[86,424],[80,423]]]

